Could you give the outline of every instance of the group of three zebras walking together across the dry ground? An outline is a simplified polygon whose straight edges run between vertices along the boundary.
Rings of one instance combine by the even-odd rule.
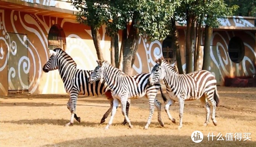
[[[158,110],[158,121],[164,126],[161,120],[161,103],[156,99],[156,94],[160,89],[165,105],[165,111],[169,119],[175,123],[169,112],[169,106],[175,101],[179,102],[180,123],[178,128],[182,128],[182,117],[184,101],[200,99],[206,110],[206,121],[209,123],[210,102],[213,105],[212,117],[214,125],[217,125],[215,118],[216,106],[219,104],[216,79],[214,75],[206,70],[200,70],[188,74],[179,74],[177,70],[163,59],[156,59],[156,65],[151,73],[141,73],[137,75],[126,75],[121,70],[115,68],[107,61],[97,60],[98,66],[92,70],[82,70],[76,68],[76,62],[60,48],[50,50],[50,58],[43,66],[44,72],[58,69],[61,79],[64,82],[66,92],[70,95],[67,107],[71,112],[71,119],[65,126],[73,125],[74,118],[81,121],[76,115],[76,103],[79,94],[86,96],[98,96],[105,94],[110,107],[101,118],[105,122],[111,112],[111,117],[105,129],[112,124],[119,102],[121,103],[124,122],[132,128],[128,118],[130,99],[146,96],[150,105],[150,114],[144,129],[148,129],[155,107]],[[163,80],[169,96],[167,99],[161,89],[159,81]]]

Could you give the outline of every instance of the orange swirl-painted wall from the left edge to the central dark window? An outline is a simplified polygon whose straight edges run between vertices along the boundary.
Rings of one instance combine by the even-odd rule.
[[[26,10],[24,10],[26,11]],[[31,10],[27,10],[31,11]],[[53,18],[48,16],[35,14],[27,14],[14,10],[1,10],[1,49],[0,49],[0,73],[2,75],[0,80],[1,93],[8,93],[8,83],[6,83],[5,75],[10,79],[11,77],[17,77],[21,72],[29,73],[29,85],[28,90],[31,94],[36,93],[65,93],[63,82],[59,76],[58,70],[43,73],[42,66],[49,58],[47,35],[50,27],[53,24],[59,24],[66,35],[66,52],[77,62],[77,68],[93,70],[97,65],[97,56],[94,49],[92,35],[90,27],[77,23],[71,19]],[[6,26],[6,27],[5,27]],[[74,27],[70,27],[74,26]],[[26,61],[22,60],[20,68],[13,68],[13,72],[8,74],[7,62],[9,60],[9,54],[19,50],[20,46],[13,46],[12,44],[18,44],[20,42],[25,45],[27,40],[19,38],[17,42],[8,44],[6,40],[6,32],[12,32],[15,34],[27,34],[28,46]],[[110,38],[105,35],[105,27],[100,28],[101,35],[101,48],[106,60],[110,60]],[[119,34],[119,36],[121,36]],[[9,37],[10,38],[10,37]],[[121,40],[121,38],[119,38]],[[133,66],[135,73],[150,72],[151,68],[155,65],[155,58],[160,58],[161,42],[150,42],[147,36],[140,37],[140,47],[144,50],[140,50],[137,54],[137,62]],[[15,55],[15,54],[14,54]],[[18,58],[18,56],[16,56]],[[138,64],[137,64],[138,63]],[[145,66],[147,63],[147,66]],[[143,66],[142,66],[143,64]],[[19,78],[21,80],[21,78]],[[10,84],[9,84],[10,85]]]

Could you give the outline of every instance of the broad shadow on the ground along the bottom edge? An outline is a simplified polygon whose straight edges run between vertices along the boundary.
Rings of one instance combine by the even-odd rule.
[[[125,134],[125,132],[124,132]],[[174,146],[174,147],[230,147],[230,146],[255,146],[253,141],[208,141],[207,136],[204,136],[203,141],[194,143],[191,136],[179,135],[132,135],[132,136],[117,136],[117,137],[88,137],[84,139],[76,139],[71,141],[58,142],[56,144],[43,145],[43,147],[81,147],[81,146],[111,146],[111,147],[153,147],[153,146]]]

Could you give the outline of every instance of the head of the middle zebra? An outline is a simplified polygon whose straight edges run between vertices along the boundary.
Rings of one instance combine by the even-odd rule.
[[[95,67],[92,74],[90,75],[88,82],[92,84],[94,81],[98,81],[103,77],[103,67],[102,67],[102,61],[97,60],[98,66]]]

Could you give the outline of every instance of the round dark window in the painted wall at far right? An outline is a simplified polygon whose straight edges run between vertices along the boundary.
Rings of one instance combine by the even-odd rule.
[[[245,45],[243,40],[239,37],[232,37],[229,40],[229,58],[235,63],[239,63],[243,60],[245,56]]]

